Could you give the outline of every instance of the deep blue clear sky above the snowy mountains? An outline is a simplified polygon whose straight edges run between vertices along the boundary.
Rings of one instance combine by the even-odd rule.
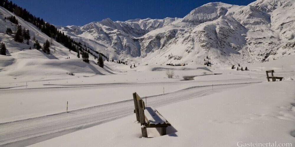
[[[184,17],[209,2],[247,5],[255,0],[12,0],[37,17],[54,25],[85,25],[110,18],[126,21],[136,18]]]

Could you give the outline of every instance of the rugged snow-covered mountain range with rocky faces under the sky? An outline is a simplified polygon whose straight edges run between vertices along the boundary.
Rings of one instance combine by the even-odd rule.
[[[295,54],[294,1],[208,3],[183,18],[104,19],[60,27],[109,58],[140,63],[253,63]]]

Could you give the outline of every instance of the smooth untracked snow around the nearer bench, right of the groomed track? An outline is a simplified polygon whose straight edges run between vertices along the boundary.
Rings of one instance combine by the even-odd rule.
[[[135,115],[130,115],[32,146],[237,146],[238,141],[294,144],[290,134],[295,121],[291,105],[294,86],[292,81],[263,82],[160,107],[172,125],[164,136],[148,128],[148,136],[153,138],[141,138],[140,125],[132,123]]]

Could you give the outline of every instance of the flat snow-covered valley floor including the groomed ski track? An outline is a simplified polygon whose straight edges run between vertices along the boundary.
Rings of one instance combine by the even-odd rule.
[[[295,144],[294,62],[289,56],[250,65],[250,71],[193,65],[130,69],[106,63],[111,72],[105,75],[39,76],[36,70],[37,76],[21,77],[3,72],[0,146]],[[174,70],[175,78],[166,78],[168,69]],[[267,82],[265,70],[269,69],[283,81]],[[183,81],[183,76],[195,77]],[[141,138],[133,92],[171,123],[167,135],[149,128],[149,138]],[[65,113],[67,101],[69,112]]]

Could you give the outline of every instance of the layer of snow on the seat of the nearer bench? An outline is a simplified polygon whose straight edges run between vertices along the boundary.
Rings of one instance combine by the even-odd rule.
[[[152,125],[170,125],[170,123],[153,107],[145,107],[145,119]]]

